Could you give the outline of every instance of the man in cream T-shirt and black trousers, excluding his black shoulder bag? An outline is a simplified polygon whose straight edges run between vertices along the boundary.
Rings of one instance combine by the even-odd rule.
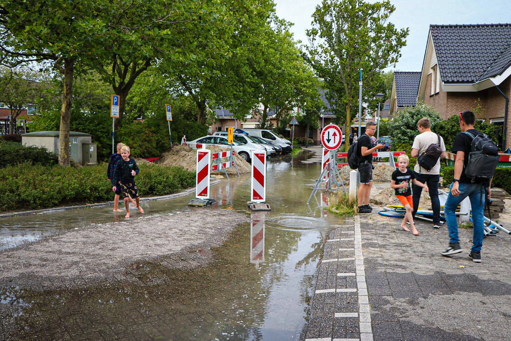
[[[411,156],[419,157],[422,155],[431,143],[438,144],[438,137],[440,137],[440,150],[442,155],[440,157],[445,158],[446,146],[444,139],[431,131],[431,122],[429,118],[424,117],[417,122],[417,129],[420,134],[415,136],[412,145]],[[436,161],[436,164],[429,171],[426,171],[418,163],[413,168],[415,172],[415,178],[428,185],[429,196],[431,198],[431,208],[433,209],[433,228],[438,229],[440,227],[440,201],[438,199],[438,182],[440,181],[440,159]],[[413,198],[413,217],[419,208],[419,201],[421,200],[422,187],[412,185],[412,198]]]

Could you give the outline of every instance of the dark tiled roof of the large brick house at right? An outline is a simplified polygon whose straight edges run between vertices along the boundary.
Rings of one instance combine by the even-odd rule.
[[[511,65],[511,24],[431,25],[444,83],[475,83]]]

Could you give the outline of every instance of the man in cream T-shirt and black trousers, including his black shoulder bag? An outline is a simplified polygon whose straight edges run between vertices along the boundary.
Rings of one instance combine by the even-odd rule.
[[[438,199],[438,182],[440,181],[440,157],[446,157],[446,146],[442,136],[431,131],[429,118],[421,118],[417,122],[420,134],[415,136],[412,145],[411,156],[417,158],[413,168],[415,179],[428,186],[433,209],[433,228],[440,227],[440,200]],[[422,187],[412,184],[413,213],[419,208]]]

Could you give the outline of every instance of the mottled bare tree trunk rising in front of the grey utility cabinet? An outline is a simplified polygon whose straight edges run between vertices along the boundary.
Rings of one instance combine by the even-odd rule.
[[[69,121],[73,101],[74,63],[75,61],[72,58],[64,59],[64,91],[62,94],[62,108],[60,109],[59,131],[59,164],[64,167],[71,166],[69,161]]]

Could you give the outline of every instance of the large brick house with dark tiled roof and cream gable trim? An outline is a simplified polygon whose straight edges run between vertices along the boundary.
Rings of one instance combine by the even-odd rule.
[[[511,147],[511,24],[431,25],[417,98],[443,119],[472,110]]]

